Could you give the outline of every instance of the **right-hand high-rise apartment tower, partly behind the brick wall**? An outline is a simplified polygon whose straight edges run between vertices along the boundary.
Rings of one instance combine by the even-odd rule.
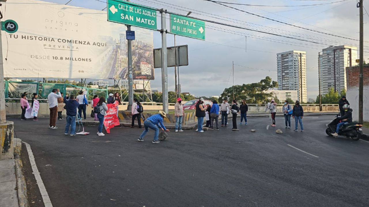
[[[338,92],[347,89],[346,67],[354,66],[356,58],[356,47],[342,45],[323,49],[319,55],[322,94],[327,94],[330,88]]]

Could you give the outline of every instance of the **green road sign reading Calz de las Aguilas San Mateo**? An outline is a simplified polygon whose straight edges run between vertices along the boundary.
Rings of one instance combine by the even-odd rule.
[[[123,0],[107,1],[108,21],[156,30],[156,10]]]

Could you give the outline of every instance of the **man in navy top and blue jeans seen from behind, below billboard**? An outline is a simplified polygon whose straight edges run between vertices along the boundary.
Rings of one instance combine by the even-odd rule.
[[[79,103],[75,100],[74,95],[70,95],[70,98],[65,103],[66,106],[66,124],[65,124],[65,135],[68,135],[69,125],[70,125],[70,136],[76,135],[76,116],[77,108]]]

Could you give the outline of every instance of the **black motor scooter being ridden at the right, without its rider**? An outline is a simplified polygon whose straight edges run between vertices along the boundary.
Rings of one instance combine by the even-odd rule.
[[[339,114],[336,115],[334,119],[327,124],[328,128],[325,130],[325,133],[327,133],[329,136],[333,136],[332,133],[336,131],[337,124],[340,122],[340,120],[338,119],[339,117]],[[345,136],[357,141],[363,135],[363,130],[361,129],[362,126],[363,123],[360,122],[346,123],[339,128],[338,135]]]

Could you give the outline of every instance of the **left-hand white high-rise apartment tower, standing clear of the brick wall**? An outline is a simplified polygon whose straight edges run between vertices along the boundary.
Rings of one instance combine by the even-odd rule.
[[[306,52],[277,53],[278,90],[297,91],[297,100],[307,102]]]

